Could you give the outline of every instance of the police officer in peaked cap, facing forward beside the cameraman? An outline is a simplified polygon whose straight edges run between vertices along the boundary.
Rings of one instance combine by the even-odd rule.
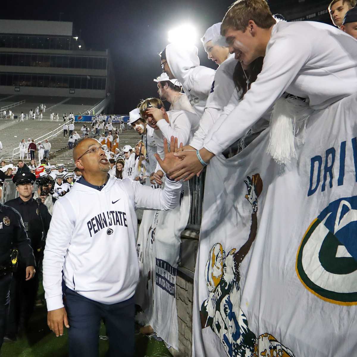
[[[37,266],[37,274],[31,281],[23,281],[22,279],[25,264],[21,259],[19,260],[17,272],[14,273],[14,279],[11,282],[10,288],[10,299],[15,301],[15,303],[10,304],[9,321],[6,331],[6,336],[11,340],[16,340],[16,334],[26,329],[26,325],[34,310],[39,287],[39,273],[41,272],[45,237],[51,221],[51,215],[47,207],[41,202],[41,198],[38,198],[38,201],[32,198],[32,185],[35,180],[36,176],[30,172],[16,174],[12,178],[12,181],[16,184],[19,197],[5,203],[20,213],[34,251]]]

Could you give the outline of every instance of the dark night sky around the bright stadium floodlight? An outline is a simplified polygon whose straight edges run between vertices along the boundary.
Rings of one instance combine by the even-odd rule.
[[[271,0],[270,4],[280,0]],[[232,0],[78,0],[8,1],[2,19],[74,22],[87,49],[111,51],[116,71],[115,114],[125,114],[140,99],[156,96],[153,79],[161,73],[157,52],[167,45],[167,32],[191,23],[201,37],[220,22]],[[63,13],[60,15],[60,13]],[[9,31],[11,32],[11,31]],[[201,65],[216,69],[197,39]]]

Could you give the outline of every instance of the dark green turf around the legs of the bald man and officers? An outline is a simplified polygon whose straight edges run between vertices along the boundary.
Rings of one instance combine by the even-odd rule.
[[[40,285],[40,298],[44,298],[42,285]],[[1,348],[1,357],[66,357],[68,356],[68,334],[65,329],[64,336],[56,337],[47,327],[46,307],[35,307],[34,314],[29,323],[26,335],[17,338],[16,342],[4,342]],[[139,326],[137,327],[137,330]],[[105,338],[105,327],[102,324],[100,335]],[[136,337],[135,357],[170,357],[164,342],[141,335],[138,331]],[[99,356],[105,356],[108,340],[99,341]],[[120,354],[118,354],[120,356]],[[85,357],[85,356],[84,356]]]

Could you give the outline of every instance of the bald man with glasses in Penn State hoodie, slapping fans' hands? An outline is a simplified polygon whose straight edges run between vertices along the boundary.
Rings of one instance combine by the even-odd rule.
[[[164,160],[156,154],[164,171],[180,162],[174,156],[174,137],[170,148],[171,152],[165,142]],[[73,158],[82,177],[56,201],[44,252],[47,325],[57,337],[63,335],[63,325],[69,329],[71,357],[97,357],[103,319],[109,356],[133,356],[139,279],[135,209],[175,208],[181,182],[167,180],[161,190],[130,178],[117,179],[108,174],[109,161],[95,139],[82,140]]]

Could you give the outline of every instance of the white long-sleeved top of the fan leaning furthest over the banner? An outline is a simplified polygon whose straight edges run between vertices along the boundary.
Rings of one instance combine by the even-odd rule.
[[[285,22],[273,26],[261,73],[244,99],[210,129],[203,147],[217,155],[286,91],[324,109],[357,91],[357,42],[320,22]]]

